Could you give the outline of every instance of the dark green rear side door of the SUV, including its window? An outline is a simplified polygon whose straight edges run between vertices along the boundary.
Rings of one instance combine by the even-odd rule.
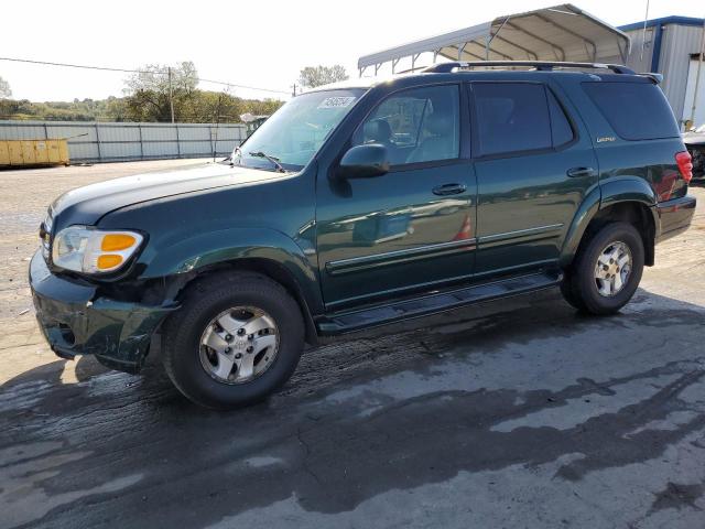
[[[555,263],[598,182],[589,136],[557,87],[471,83],[478,278]]]

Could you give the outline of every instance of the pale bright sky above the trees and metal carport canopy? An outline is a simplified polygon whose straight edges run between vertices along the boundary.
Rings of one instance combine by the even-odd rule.
[[[557,3],[445,0],[436,9],[415,0],[13,1],[3,2],[0,14],[0,56],[128,69],[193,61],[202,78],[289,93],[305,66],[341,64],[354,76],[360,55]],[[612,25],[643,20],[647,6],[646,0],[573,3]],[[703,18],[705,2],[650,1],[649,18],[671,14]],[[127,76],[0,61],[0,77],[13,98],[33,101],[121,96]],[[288,98],[237,87],[230,94]]]

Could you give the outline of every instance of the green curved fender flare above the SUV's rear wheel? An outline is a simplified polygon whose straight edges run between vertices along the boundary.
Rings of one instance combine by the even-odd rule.
[[[657,196],[646,180],[638,176],[617,176],[601,181],[586,194],[573,217],[563,242],[558,264],[565,268],[573,261],[587,226],[600,209],[626,202],[636,202],[649,207],[654,226],[658,226],[657,212],[653,207],[657,204]]]

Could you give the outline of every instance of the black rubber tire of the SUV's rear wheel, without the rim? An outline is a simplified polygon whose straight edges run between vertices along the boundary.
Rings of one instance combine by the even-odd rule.
[[[629,255],[629,272],[619,290],[615,290],[614,293],[600,293],[598,282],[607,290],[609,285],[596,279],[598,258],[604,256],[606,250],[619,251],[620,248],[625,250],[622,256]],[[581,311],[595,315],[614,314],[625,306],[637,291],[643,272],[643,240],[637,228],[628,223],[607,224],[593,233],[581,246],[573,267],[566,272],[561,291],[565,300]],[[616,270],[619,269],[610,268],[605,273]],[[618,274],[622,277],[620,272],[612,273],[612,277]]]

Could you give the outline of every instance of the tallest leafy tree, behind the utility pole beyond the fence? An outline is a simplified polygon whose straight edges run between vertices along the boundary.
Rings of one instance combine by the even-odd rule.
[[[126,79],[129,118],[135,121],[171,121],[170,94],[175,119],[186,118],[198,85],[196,67],[191,61],[185,61],[171,67],[171,79],[169,72],[169,66],[148,64]]]

